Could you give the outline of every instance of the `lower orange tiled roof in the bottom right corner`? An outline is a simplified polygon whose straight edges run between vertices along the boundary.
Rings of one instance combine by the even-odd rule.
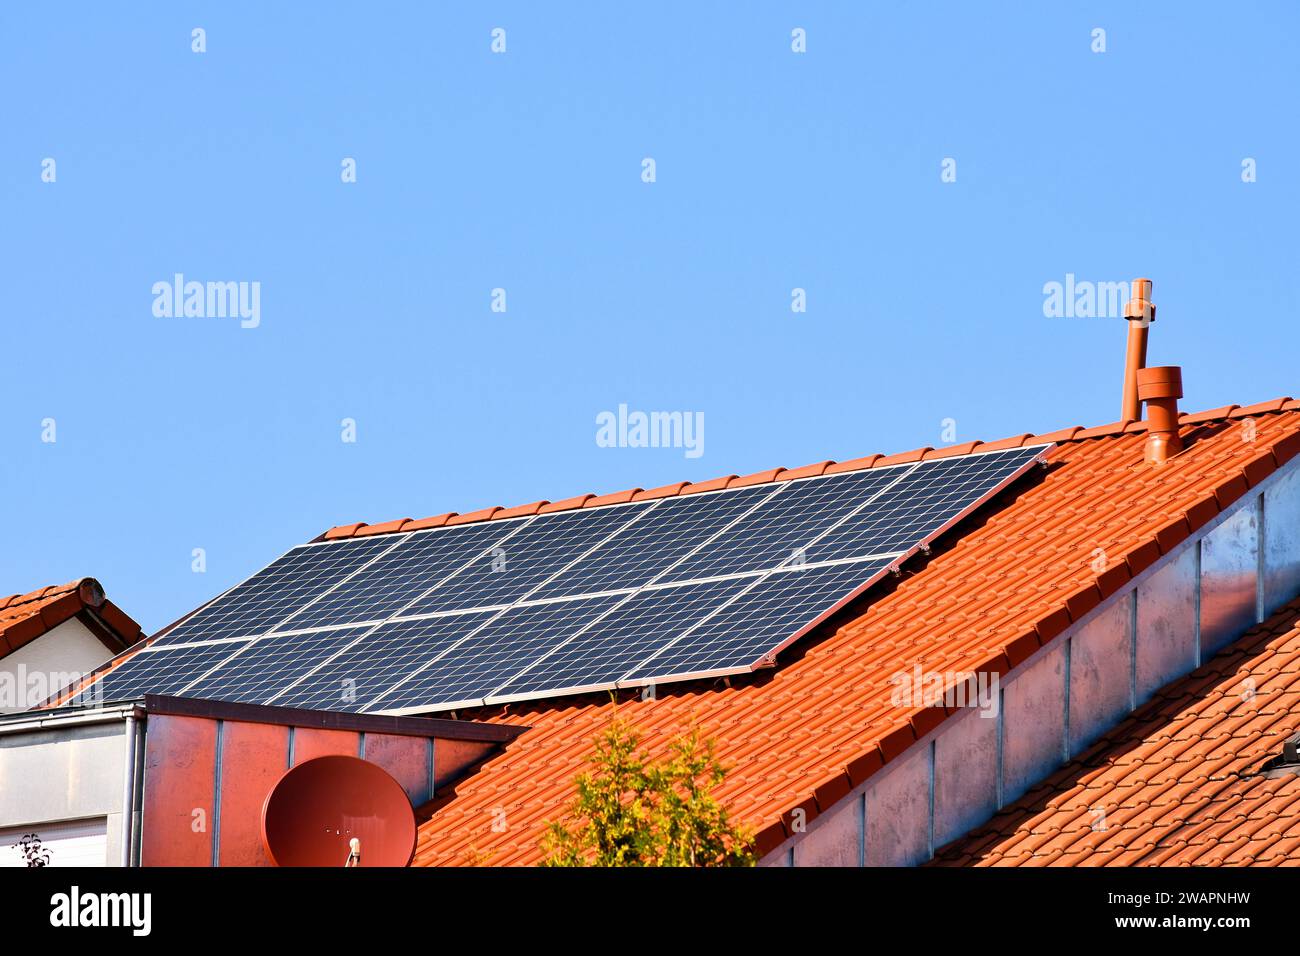
[[[1300,865],[1300,600],[937,855],[945,866]]]

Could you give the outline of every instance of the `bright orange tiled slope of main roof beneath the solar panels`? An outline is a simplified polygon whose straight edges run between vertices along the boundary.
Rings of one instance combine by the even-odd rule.
[[[1247,418],[1253,441],[1238,424]],[[890,705],[892,675],[918,663],[1006,672],[1300,451],[1300,402],[1291,399],[1180,421],[1188,447],[1158,468],[1143,460],[1145,423],[962,446],[1057,442],[1036,480],[1004,492],[924,567],[905,568],[892,589],[790,648],[776,669],[729,685],[660,687],[656,700],[627,692],[619,713],[651,753],[690,723],[714,737],[731,767],[718,796],[759,831],[762,852],[774,849],[796,809],[811,821],[945,719],[941,708]],[[1101,574],[1092,570],[1098,548],[1110,558]],[[568,697],[467,713],[530,730],[439,800],[415,862],[538,862],[543,825],[572,799],[614,711],[608,697]]]

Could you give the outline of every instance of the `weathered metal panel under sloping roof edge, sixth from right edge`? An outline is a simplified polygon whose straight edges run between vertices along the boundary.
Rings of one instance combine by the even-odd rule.
[[[935,737],[935,845],[956,840],[997,809],[997,713],[968,710]]]

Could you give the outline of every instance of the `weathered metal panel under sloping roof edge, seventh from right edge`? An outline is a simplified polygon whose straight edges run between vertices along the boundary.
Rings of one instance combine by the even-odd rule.
[[[867,791],[867,866],[930,858],[930,748],[914,747]]]

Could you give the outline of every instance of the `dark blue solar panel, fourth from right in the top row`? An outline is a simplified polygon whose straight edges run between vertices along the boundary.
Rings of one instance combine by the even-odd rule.
[[[404,614],[514,604],[649,509],[646,502],[545,515],[500,548],[477,557],[447,587],[421,598]]]

